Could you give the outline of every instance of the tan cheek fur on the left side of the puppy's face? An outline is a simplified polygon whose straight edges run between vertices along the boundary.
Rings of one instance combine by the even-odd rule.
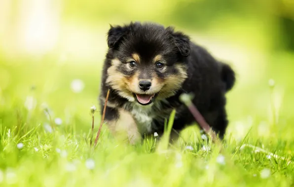
[[[135,98],[133,97],[133,94],[126,87],[128,79],[125,75],[116,70],[117,66],[120,64],[121,62],[118,59],[113,59],[111,61],[111,66],[107,70],[108,77],[106,79],[106,84],[116,90],[120,96],[128,99],[129,101],[134,101]]]

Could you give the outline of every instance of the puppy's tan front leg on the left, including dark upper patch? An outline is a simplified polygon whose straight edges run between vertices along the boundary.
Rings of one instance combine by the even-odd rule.
[[[115,138],[128,139],[130,144],[141,141],[142,136],[132,115],[124,109],[106,108],[105,121]]]

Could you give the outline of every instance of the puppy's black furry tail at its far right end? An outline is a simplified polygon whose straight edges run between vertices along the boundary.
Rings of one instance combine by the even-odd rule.
[[[226,63],[221,62],[221,80],[225,84],[225,91],[230,91],[236,82],[234,70]]]

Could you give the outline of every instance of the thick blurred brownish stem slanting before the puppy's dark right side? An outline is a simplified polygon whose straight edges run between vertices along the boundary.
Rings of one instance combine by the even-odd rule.
[[[212,136],[212,141],[216,141],[216,133],[212,130],[210,125],[208,125],[203,118],[203,116],[200,114],[196,106],[191,102],[191,99],[189,98],[188,94],[182,94],[180,97],[181,101],[184,102],[184,104],[188,107],[192,115],[194,116],[195,120],[198,122],[198,124],[203,128],[203,130]]]

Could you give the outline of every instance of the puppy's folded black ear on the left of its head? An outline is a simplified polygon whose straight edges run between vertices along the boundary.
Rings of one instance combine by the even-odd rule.
[[[127,27],[116,26],[113,27],[110,25],[110,30],[107,33],[107,44],[109,48],[114,47],[119,43],[119,41],[129,32]]]

